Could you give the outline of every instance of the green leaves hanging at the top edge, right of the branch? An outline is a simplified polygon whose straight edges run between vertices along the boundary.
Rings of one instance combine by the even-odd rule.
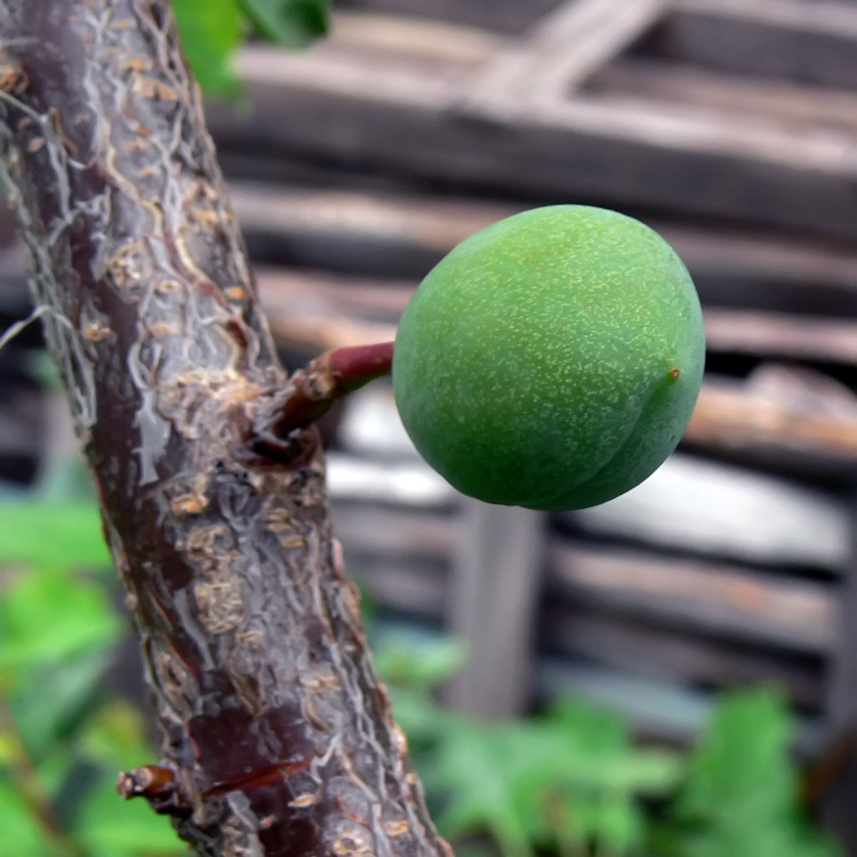
[[[304,48],[330,26],[328,0],[172,0],[172,5],[196,80],[206,93],[233,100],[241,94],[233,63],[248,35]]]

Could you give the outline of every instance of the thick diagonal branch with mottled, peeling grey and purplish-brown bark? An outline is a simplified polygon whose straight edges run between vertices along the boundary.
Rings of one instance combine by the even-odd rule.
[[[140,632],[161,809],[203,854],[446,854],[315,428],[252,442],[287,378],[169,4],[0,0],[0,39],[4,182]]]

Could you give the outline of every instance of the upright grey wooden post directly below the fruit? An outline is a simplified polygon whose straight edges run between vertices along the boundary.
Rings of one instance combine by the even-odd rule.
[[[464,536],[452,560],[448,628],[470,649],[447,700],[482,717],[524,713],[542,568],[542,518],[517,506],[464,500]]]

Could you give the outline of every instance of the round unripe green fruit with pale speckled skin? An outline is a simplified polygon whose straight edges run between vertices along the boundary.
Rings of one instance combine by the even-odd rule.
[[[601,208],[550,206],[452,250],[405,310],[399,414],[464,494],[595,506],[662,464],[702,383],[690,274],[662,237]]]

